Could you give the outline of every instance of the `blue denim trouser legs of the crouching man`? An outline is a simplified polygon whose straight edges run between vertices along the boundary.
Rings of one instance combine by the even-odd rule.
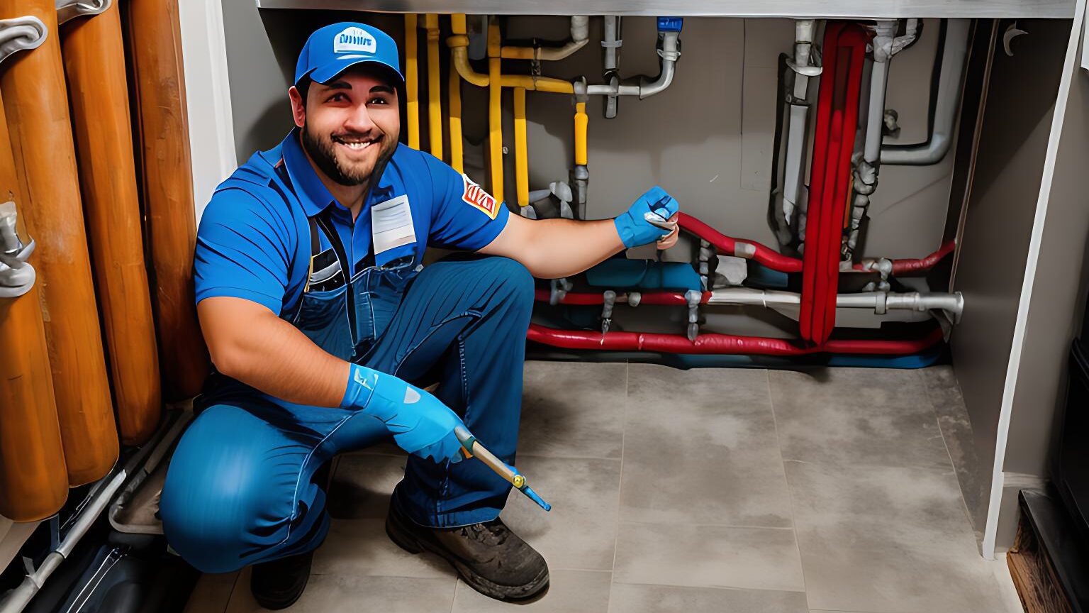
[[[436,395],[488,448],[514,462],[534,283],[505,257],[460,254],[424,268],[363,363]],[[160,515],[171,546],[205,573],[316,549],[329,529],[315,472],[335,454],[389,440],[358,411],[293,405],[254,393],[215,396],[174,452]],[[476,460],[409,456],[394,491],[423,526],[499,516],[510,485]]]

